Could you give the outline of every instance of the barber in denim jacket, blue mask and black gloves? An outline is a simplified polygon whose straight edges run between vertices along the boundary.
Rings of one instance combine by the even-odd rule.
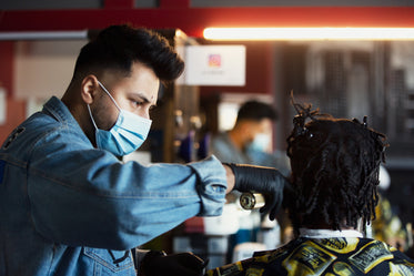
[[[120,162],[144,142],[161,83],[184,63],[166,40],[112,25],[85,44],[61,99],[52,96],[0,149],[0,275],[200,275],[184,253],[131,249],[193,216],[220,215],[230,191],[267,195],[274,216],[283,176],[222,164]]]

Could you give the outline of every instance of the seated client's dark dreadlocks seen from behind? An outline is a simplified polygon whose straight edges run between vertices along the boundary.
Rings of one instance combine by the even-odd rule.
[[[287,137],[292,194],[285,204],[295,231],[327,225],[357,228],[375,219],[376,186],[385,135],[354,120],[334,119],[293,102],[297,115]],[[306,123],[306,120],[310,120]]]

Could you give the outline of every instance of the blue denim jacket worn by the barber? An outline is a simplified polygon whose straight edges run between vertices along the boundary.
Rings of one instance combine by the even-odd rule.
[[[51,98],[0,149],[0,275],[135,275],[129,249],[219,215],[225,171],[120,162]]]

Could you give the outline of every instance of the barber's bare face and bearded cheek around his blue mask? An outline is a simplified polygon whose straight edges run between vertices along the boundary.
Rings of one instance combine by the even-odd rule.
[[[145,65],[135,62],[130,76],[120,78],[105,73],[99,80],[111,93],[119,108],[150,119],[150,110],[155,105],[160,80]],[[94,120],[99,129],[110,130],[117,122],[119,110],[109,95],[101,89],[94,110]],[[94,108],[94,109],[93,109]]]

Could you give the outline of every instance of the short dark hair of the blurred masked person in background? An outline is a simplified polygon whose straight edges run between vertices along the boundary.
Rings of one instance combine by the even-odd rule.
[[[248,101],[239,109],[236,121],[261,121],[263,119],[275,121],[277,119],[277,113],[270,104],[259,101]]]

